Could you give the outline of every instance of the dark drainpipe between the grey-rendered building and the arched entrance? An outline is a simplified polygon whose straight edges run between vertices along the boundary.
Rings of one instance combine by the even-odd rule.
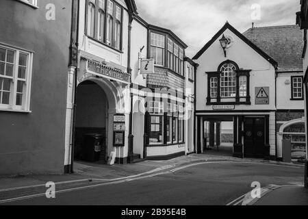
[[[74,72],[74,103],[73,103],[73,123],[72,123],[72,139],[70,153],[70,170],[69,173],[74,173],[74,149],[75,149],[75,121],[76,121],[76,100],[77,100],[77,67],[78,67],[78,46],[79,46],[79,1],[73,0],[72,6],[72,29],[71,29],[71,44],[70,44],[70,65],[75,66]]]

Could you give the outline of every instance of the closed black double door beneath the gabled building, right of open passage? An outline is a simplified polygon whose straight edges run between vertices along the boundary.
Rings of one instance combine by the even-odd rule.
[[[244,157],[264,157],[265,118],[245,118]]]

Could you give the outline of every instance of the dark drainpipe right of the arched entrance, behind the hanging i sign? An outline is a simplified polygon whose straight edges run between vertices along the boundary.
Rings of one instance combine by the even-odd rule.
[[[129,12],[129,26],[128,26],[128,50],[127,50],[127,73],[131,75],[131,23],[133,22],[133,12]],[[130,86],[131,92],[131,112],[129,114],[129,152],[128,163],[133,163],[133,92]]]

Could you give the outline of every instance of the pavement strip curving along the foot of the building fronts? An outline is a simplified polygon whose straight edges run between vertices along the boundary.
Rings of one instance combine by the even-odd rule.
[[[272,164],[274,166],[303,167],[300,164],[286,164],[261,159],[239,159],[219,155],[196,154],[177,157],[168,161],[144,161],[136,164],[115,164],[113,166],[77,162],[75,163],[75,173],[73,175],[23,175],[0,177],[0,203],[1,200],[10,198],[44,194],[44,192],[46,192],[45,184],[49,181],[55,182],[57,191],[69,190],[72,188],[100,185],[101,183],[125,181],[136,177],[146,177],[157,172],[165,172],[166,170],[175,168],[180,170],[181,167],[194,166],[202,162],[241,162],[243,164],[261,163]],[[283,188],[283,191],[285,191],[285,188]],[[275,195],[275,193],[272,194]],[[303,198],[300,198],[300,200],[305,201]],[[257,203],[262,204],[261,202]]]

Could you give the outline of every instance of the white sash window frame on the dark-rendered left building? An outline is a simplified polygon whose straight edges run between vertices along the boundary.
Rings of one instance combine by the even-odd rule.
[[[8,44],[0,43],[0,48],[14,51],[14,68],[12,77],[6,77],[5,75],[1,75],[1,78],[10,78],[12,79],[10,83],[10,103],[9,104],[0,104],[0,111],[10,111],[10,112],[30,112],[30,99],[31,99],[31,77],[33,71],[33,56],[34,52],[27,51],[25,49],[21,49],[18,47],[14,47]],[[25,79],[18,77],[18,68],[21,66],[19,64],[20,54],[27,55],[27,66],[25,71]],[[6,61],[6,60],[5,60]],[[4,76],[4,77],[3,77]],[[23,100],[22,105],[16,104],[16,96],[17,96],[17,86],[18,81],[23,81]],[[12,96],[11,96],[12,95]]]

